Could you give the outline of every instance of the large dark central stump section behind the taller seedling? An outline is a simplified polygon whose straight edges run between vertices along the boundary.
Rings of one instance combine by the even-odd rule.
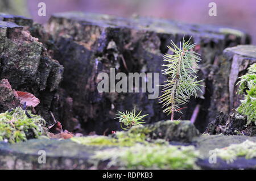
[[[134,105],[148,113],[147,123],[170,119],[162,113],[158,99],[148,99],[147,93],[103,93],[97,91],[97,74],[115,72],[160,73],[166,45],[176,44],[193,36],[199,43],[197,51],[202,55],[199,78],[205,80],[204,93],[192,98],[183,110],[182,119],[190,119],[197,104],[201,104],[195,124],[204,131],[221,105],[225,104],[221,87],[228,83],[229,62],[221,58],[222,50],[237,44],[250,43],[250,37],[241,31],[224,27],[185,24],[164,19],[124,19],[109,15],[64,13],[55,14],[48,23],[48,30],[56,41],[58,50],[54,58],[64,66],[61,87],[73,99],[73,113],[85,131],[119,129],[113,117],[117,110],[132,110]],[[171,52],[168,52],[171,53]],[[164,77],[160,74],[159,83]],[[228,111],[229,107],[226,106]],[[176,119],[181,115],[176,114]],[[65,119],[65,118],[64,118]]]

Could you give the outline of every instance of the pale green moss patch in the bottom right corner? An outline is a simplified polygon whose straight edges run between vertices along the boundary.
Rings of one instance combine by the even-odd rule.
[[[237,157],[251,159],[256,157],[256,143],[246,140],[241,144],[232,144],[222,149],[214,149],[218,157],[233,162]]]

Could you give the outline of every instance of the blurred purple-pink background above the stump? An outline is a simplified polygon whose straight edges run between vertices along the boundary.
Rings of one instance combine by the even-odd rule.
[[[46,16],[38,16],[39,2],[46,3]],[[217,4],[217,16],[208,15],[210,2]],[[39,23],[46,23],[55,12],[84,11],[217,24],[250,33],[256,44],[255,0],[0,0],[0,11],[29,16]]]

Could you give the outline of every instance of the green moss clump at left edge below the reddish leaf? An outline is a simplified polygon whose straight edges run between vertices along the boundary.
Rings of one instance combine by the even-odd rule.
[[[26,115],[26,111],[17,107],[13,111],[0,114],[0,141],[7,140],[10,143],[26,141],[30,138],[38,138],[44,133],[46,121],[38,116]]]

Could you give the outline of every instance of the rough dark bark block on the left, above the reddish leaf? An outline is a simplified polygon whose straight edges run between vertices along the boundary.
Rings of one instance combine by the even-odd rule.
[[[0,79],[8,79],[15,90],[38,97],[41,103],[36,110],[49,122],[63,66],[52,60],[43,44],[30,35],[32,23],[22,16],[0,14]]]

